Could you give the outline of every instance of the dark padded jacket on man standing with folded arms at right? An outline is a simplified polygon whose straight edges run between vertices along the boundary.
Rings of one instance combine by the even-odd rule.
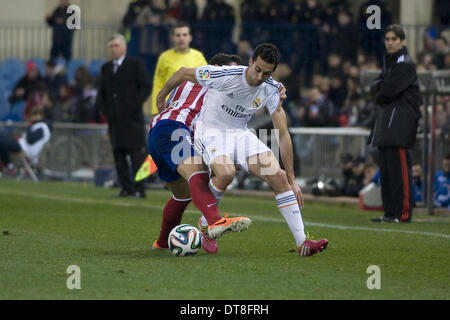
[[[378,110],[369,143],[413,148],[421,97],[416,66],[406,47],[385,57],[385,67],[371,89]]]

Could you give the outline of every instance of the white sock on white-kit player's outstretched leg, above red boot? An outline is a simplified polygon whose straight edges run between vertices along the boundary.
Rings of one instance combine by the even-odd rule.
[[[302,214],[298,206],[297,198],[292,190],[275,196],[278,210],[286,220],[297,246],[301,246],[306,239]]]

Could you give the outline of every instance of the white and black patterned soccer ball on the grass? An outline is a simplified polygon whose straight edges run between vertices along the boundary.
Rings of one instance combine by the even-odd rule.
[[[170,231],[169,250],[176,256],[192,256],[202,247],[202,234],[190,224],[180,224]]]

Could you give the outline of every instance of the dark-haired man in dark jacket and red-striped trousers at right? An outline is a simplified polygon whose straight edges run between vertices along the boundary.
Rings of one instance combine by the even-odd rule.
[[[410,222],[413,193],[411,157],[420,118],[416,67],[405,46],[405,32],[391,25],[385,32],[383,71],[372,85],[377,118],[369,137],[378,147],[384,216],[373,222]]]

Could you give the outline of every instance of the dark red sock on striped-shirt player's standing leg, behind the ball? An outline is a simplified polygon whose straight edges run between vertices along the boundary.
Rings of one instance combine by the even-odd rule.
[[[177,200],[174,197],[167,201],[163,211],[163,221],[159,231],[158,244],[161,247],[169,247],[168,238],[170,231],[181,223],[183,212],[191,202],[191,199]]]

